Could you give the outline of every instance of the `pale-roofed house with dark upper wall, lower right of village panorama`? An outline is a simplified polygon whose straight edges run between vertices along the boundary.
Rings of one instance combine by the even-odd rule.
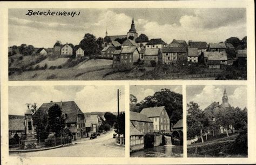
[[[227,65],[227,53],[204,52],[204,63],[208,68],[225,68]]]

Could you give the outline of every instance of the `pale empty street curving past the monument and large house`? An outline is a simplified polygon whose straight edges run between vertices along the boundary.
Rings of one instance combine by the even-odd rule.
[[[89,138],[73,141],[73,146],[43,150],[39,152],[10,154],[10,156],[54,156],[54,157],[125,157],[124,147],[114,146],[114,131]],[[105,146],[106,145],[106,146]]]

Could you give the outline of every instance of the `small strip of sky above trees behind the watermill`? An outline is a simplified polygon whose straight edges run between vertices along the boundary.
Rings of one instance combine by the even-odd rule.
[[[130,86],[130,94],[133,94],[138,99],[137,102],[140,102],[144,100],[145,97],[153,95],[154,93],[161,91],[163,88],[182,94],[181,85],[133,85]]]

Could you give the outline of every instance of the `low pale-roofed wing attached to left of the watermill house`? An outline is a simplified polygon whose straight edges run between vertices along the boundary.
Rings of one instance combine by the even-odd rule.
[[[153,132],[153,121],[142,113],[130,112],[130,121],[143,134]]]

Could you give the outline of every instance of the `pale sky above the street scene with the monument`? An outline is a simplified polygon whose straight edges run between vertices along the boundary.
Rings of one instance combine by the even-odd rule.
[[[24,115],[26,104],[37,103],[39,108],[46,102],[75,101],[82,112],[125,111],[124,86],[9,86],[9,114]]]

